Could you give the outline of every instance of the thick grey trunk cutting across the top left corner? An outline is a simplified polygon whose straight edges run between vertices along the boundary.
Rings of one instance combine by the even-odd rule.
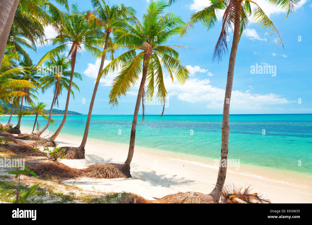
[[[19,0],[0,0],[0,65]]]

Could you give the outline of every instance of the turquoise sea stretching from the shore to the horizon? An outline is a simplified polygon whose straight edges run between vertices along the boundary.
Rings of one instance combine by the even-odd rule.
[[[32,130],[34,118],[23,117],[21,127]],[[62,115],[53,115],[53,133]],[[61,136],[80,140],[87,115],[68,115]],[[133,115],[92,115],[88,141],[129,145]],[[16,124],[16,118],[12,123]],[[44,126],[46,120],[39,118]],[[218,159],[222,115],[139,116],[135,145],[190,158]],[[265,135],[264,131],[265,130]],[[312,174],[312,114],[230,115],[230,159],[241,164]],[[300,164],[301,162],[301,164]],[[301,165],[301,166],[300,166]]]

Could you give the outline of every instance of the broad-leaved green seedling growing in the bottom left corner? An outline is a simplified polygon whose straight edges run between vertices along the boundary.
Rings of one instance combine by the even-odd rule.
[[[21,181],[21,175],[24,174],[24,175],[33,175],[35,177],[37,177],[37,175],[32,172],[32,171],[29,171],[29,168],[27,166],[25,166],[25,168],[23,170],[21,170],[21,167],[17,167],[19,168],[18,169],[18,172],[17,171],[9,171],[8,174],[14,174],[16,175],[15,178],[18,177],[18,186],[17,186],[17,191],[14,193],[16,194],[16,202],[15,203],[25,203],[25,201],[27,200],[27,198],[31,195],[35,195],[35,194],[42,194],[44,192],[36,192],[37,189],[38,189],[38,185],[39,184],[34,184],[32,185],[32,187],[26,192],[25,189],[23,189],[21,192],[20,192],[20,181]],[[14,194],[13,194],[13,191],[12,189],[2,193],[2,195],[9,195],[11,196],[12,198],[14,197]]]

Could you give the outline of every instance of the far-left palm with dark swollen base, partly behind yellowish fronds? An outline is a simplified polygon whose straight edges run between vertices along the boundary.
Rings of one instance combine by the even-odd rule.
[[[21,60],[19,63],[20,66],[22,66],[22,68],[26,69],[26,71],[22,72],[19,76],[18,79],[20,80],[29,80],[33,83],[35,83],[40,77],[37,76],[37,67],[36,65],[32,65],[32,61],[30,60]],[[33,94],[33,92],[37,92],[37,87],[34,88],[24,88],[23,92],[26,93],[26,96],[22,96],[21,99],[21,103],[20,103],[20,114],[22,113],[22,109],[23,109],[23,101],[25,101],[25,103],[32,103],[32,98],[37,98],[36,95]],[[21,128],[21,119],[22,116],[20,115],[18,117],[18,122],[17,125],[15,127],[13,127],[12,129],[7,130],[7,132],[11,133],[11,134],[20,134],[20,128]]]

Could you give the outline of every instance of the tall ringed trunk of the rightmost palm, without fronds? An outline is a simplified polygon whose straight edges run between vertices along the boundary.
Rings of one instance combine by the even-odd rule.
[[[223,117],[222,117],[222,141],[221,141],[221,157],[219,164],[219,171],[217,182],[215,188],[210,193],[214,202],[218,203],[221,192],[223,189],[223,185],[225,182],[226,174],[227,174],[227,153],[229,151],[229,115],[230,115],[230,101],[231,101],[231,93],[232,93],[232,84],[233,84],[233,74],[234,74],[234,66],[236,59],[237,46],[239,41],[239,30],[240,30],[240,5],[241,1],[236,4],[235,7],[235,23],[234,23],[234,34],[233,34],[233,42],[229,59],[229,67],[227,70],[227,86],[225,89],[224,96],[224,104],[223,104]],[[225,166],[221,166],[225,165]]]

